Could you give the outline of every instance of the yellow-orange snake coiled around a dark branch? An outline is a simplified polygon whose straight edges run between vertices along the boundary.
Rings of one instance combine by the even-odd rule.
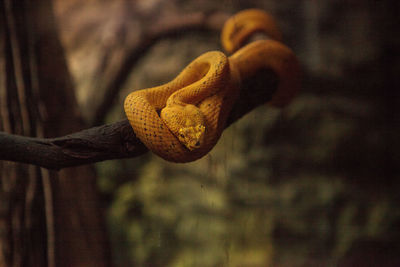
[[[240,48],[255,32],[275,40],[258,40]],[[242,79],[269,68],[279,77],[270,104],[284,106],[299,86],[299,65],[293,52],[280,43],[272,17],[258,9],[229,18],[219,51],[193,60],[175,79],[130,93],[125,113],[136,136],[155,154],[172,162],[190,162],[206,155],[217,143],[240,90]]]

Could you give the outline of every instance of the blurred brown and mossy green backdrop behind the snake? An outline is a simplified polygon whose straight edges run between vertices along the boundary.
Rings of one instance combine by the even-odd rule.
[[[221,50],[229,15],[275,16],[303,68],[285,109],[259,107],[210,155],[96,164],[115,266],[398,266],[395,1],[57,0],[85,119],[125,118],[132,90]]]

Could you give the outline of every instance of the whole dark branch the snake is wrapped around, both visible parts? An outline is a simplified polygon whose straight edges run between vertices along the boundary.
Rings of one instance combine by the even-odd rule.
[[[270,70],[260,70],[254,77],[245,80],[226,127],[270,100],[277,84],[277,76]],[[0,160],[55,170],[103,160],[137,157],[147,151],[136,138],[128,120],[58,138],[32,138],[0,132]]]

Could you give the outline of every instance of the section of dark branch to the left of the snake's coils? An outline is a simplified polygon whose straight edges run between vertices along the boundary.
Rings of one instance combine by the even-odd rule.
[[[31,138],[0,132],[0,159],[61,169],[106,159],[134,157],[147,149],[127,120],[59,138]]]

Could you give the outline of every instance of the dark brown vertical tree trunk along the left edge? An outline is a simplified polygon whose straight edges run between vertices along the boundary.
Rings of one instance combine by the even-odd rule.
[[[0,2],[0,118],[25,136],[85,128],[49,0]],[[93,167],[0,161],[0,266],[109,263]]]

